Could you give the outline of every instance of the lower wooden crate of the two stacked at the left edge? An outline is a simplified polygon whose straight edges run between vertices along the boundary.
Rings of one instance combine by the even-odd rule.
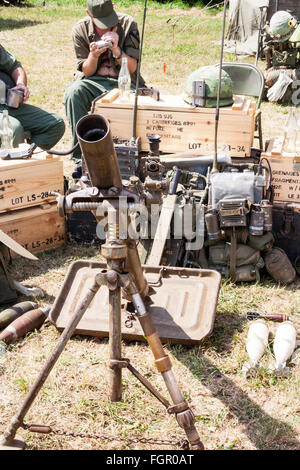
[[[0,214],[0,229],[31,253],[56,248],[66,239],[56,202]]]

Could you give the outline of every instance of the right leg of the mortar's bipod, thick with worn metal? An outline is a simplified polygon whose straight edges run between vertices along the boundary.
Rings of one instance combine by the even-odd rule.
[[[193,412],[185,401],[172,371],[172,363],[165,354],[160,337],[156,331],[156,327],[152,321],[152,317],[147,312],[144,301],[137,292],[134,282],[129,274],[121,276],[124,289],[131,296],[134,304],[136,315],[139,319],[141,327],[144,331],[146,339],[155,358],[157,370],[161,373],[170,397],[174,403],[168,408],[169,413],[175,413],[176,420],[181,428],[184,429],[191,450],[203,450],[204,446],[200,441],[198,431],[195,427],[195,418]]]

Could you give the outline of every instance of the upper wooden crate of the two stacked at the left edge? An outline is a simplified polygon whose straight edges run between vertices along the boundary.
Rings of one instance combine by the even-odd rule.
[[[59,157],[42,152],[28,160],[0,160],[0,213],[55,201],[50,192],[63,190]]]

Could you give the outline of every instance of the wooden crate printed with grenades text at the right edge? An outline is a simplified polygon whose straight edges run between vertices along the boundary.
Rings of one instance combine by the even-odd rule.
[[[274,139],[262,154],[272,170],[274,201],[300,203],[300,153],[291,155],[283,152],[283,140]]]

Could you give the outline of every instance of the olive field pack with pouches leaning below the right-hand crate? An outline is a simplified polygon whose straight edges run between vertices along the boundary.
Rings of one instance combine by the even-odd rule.
[[[258,282],[265,265],[278,282],[294,279],[288,257],[273,248],[273,206],[265,198],[267,181],[270,184],[270,169],[261,164],[247,168],[231,164],[223,172],[208,175],[208,264],[234,282]]]

